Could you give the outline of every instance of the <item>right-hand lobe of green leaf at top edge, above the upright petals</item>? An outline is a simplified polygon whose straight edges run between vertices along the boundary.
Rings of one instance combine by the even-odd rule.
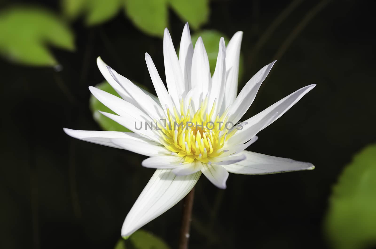
[[[169,0],[171,8],[184,21],[188,21],[192,29],[198,29],[206,23],[209,18],[209,1],[208,0]]]

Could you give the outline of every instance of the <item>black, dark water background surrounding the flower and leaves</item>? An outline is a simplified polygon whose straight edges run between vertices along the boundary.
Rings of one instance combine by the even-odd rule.
[[[59,9],[58,2],[33,2]],[[255,49],[289,3],[212,1],[202,29],[228,37],[244,31],[239,89],[261,67],[279,60],[243,119],[317,84],[249,148],[312,162],[316,169],[230,174],[226,190],[202,176],[196,185],[191,248],[326,248],[323,220],[331,187],[352,155],[376,141],[375,2],[328,1],[315,12],[319,2],[304,1]],[[183,25],[170,12],[175,46]],[[144,156],[75,140],[62,128],[100,129],[88,107],[88,86],[103,81],[97,56],[153,89],[144,62],[149,52],[164,80],[162,39],[141,33],[122,12],[99,26],[87,28],[78,20],[72,28],[76,52],[53,50],[60,72],[0,59],[2,248],[113,248],[126,214],[154,172],[141,166]],[[180,213],[181,203],[144,229],[176,248]]]

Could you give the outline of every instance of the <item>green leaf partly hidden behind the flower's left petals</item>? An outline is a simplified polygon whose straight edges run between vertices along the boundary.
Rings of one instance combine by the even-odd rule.
[[[111,85],[104,81],[98,85],[96,85],[96,88],[99,88],[100,90],[106,91],[108,93],[111,93],[117,97],[120,97],[119,94],[114,90],[114,88],[111,87]],[[107,106],[103,105],[99,100],[97,100],[93,95],[90,96],[89,100],[89,106],[93,114],[94,120],[102,127],[103,130],[106,131],[126,131],[130,132],[129,129],[125,128],[122,125],[119,125],[111,118],[105,117],[104,115],[100,114],[99,111],[109,112],[115,114],[111,109],[109,109]]]

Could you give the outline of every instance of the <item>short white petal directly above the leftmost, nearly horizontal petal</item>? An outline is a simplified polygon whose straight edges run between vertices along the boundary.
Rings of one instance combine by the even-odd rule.
[[[129,106],[130,107],[130,106]],[[129,114],[128,115],[122,115],[118,116],[112,113],[108,112],[102,112],[103,115],[105,115],[108,118],[111,118],[118,124],[124,126],[125,128],[130,129],[131,131],[135,132],[136,134],[139,134],[143,137],[149,138],[150,140],[156,141],[159,143],[158,138],[156,138],[156,129],[155,129],[155,123],[145,115],[140,114],[138,109],[131,109],[129,108]],[[149,118],[149,119],[148,119]],[[149,126],[146,126],[146,123],[150,124],[152,128],[149,128]]]

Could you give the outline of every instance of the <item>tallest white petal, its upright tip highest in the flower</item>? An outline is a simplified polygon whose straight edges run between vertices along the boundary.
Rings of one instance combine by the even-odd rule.
[[[182,68],[182,74],[186,90],[191,90],[191,67],[192,67],[193,45],[188,23],[184,25],[182,39],[179,48],[179,63]],[[185,97],[185,96],[183,96]]]

